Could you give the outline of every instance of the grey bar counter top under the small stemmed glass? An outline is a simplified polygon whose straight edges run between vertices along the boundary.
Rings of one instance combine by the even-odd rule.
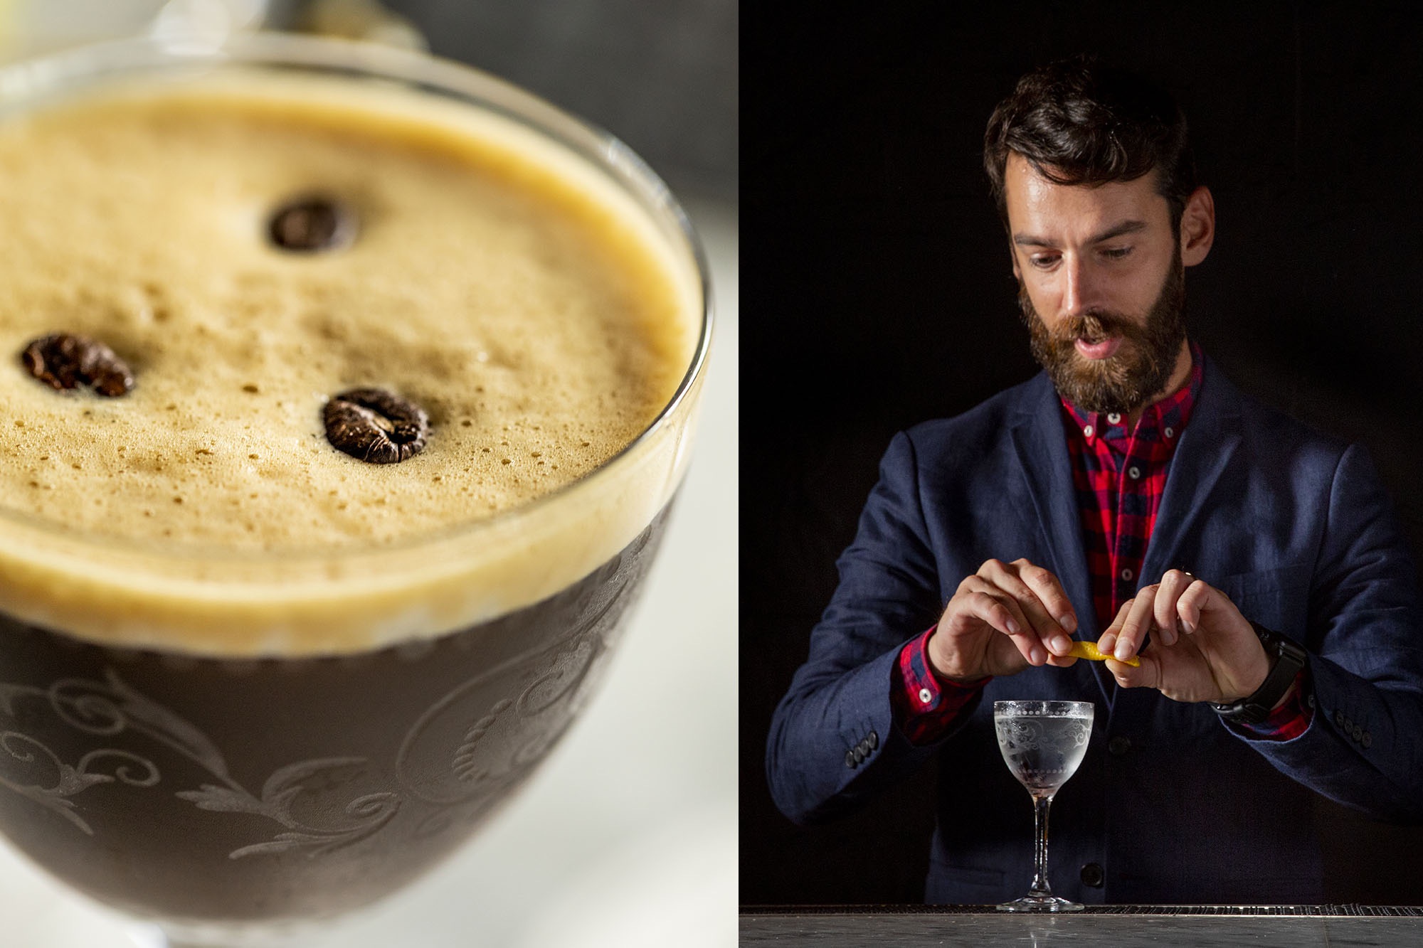
[[[744,905],[740,945],[919,948],[1365,948],[1423,945],[1416,905],[1090,905],[1000,912],[992,905]]]

